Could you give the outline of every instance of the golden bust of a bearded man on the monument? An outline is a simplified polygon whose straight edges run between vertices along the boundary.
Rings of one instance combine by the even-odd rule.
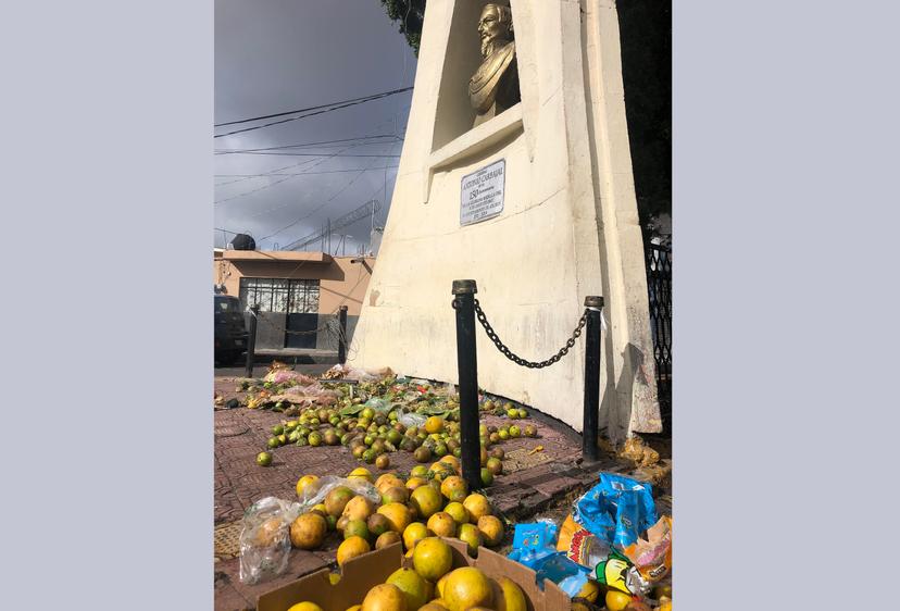
[[[482,65],[468,80],[468,99],[476,112],[475,125],[521,100],[510,8],[486,4],[478,20],[478,35],[482,37]]]

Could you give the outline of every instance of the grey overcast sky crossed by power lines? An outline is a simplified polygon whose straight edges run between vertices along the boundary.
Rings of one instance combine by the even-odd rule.
[[[378,0],[215,0],[216,124],[409,87],[414,77],[415,55]],[[387,135],[260,151],[266,154],[216,154],[214,227],[249,233],[257,248],[271,250],[371,199],[384,202],[376,215],[384,224],[397,172],[391,166],[402,148],[395,136],[405,132],[411,99],[409,91],[215,138],[214,148],[223,151]],[[217,127],[215,134],[262,123]],[[353,236],[348,254],[368,241],[370,225],[366,219],[339,230]],[[215,232],[216,246],[224,246],[224,235],[233,237]],[[332,238],[333,251],[339,239]]]

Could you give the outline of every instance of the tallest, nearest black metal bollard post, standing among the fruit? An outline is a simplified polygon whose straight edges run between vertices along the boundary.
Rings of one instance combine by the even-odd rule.
[[[460,373],[460,440],[462,475],[468,488],[480,489],[482,446],[478,439],[478,361],[475,353],[475,280],[453,280],[457,311],[457,364]]]

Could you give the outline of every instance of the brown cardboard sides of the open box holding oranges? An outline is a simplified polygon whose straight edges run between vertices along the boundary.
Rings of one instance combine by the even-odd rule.
[[[478,548],[478,558],[470,558],[464,543],[443,540],[453,551],[453,569],[475,566],[495,579],[509,577],[525,594],[528,611],[562,611],[570,608],[568,597],[557,584],[545,579],[543,591],[538,589],[535,572],[527,566],[484,547]],[[291,604],[304,600],[315,602],[325,611],[346,611],[353,604],[362,603],[370,589],[385,583],[401,566],[412,568],[412,559],[404,558],[401,545],[395,544],[348,561],[336,585],[328,579],[329,571],[323,569],[268,591],[257,600],[257,611],[287,611]]]

